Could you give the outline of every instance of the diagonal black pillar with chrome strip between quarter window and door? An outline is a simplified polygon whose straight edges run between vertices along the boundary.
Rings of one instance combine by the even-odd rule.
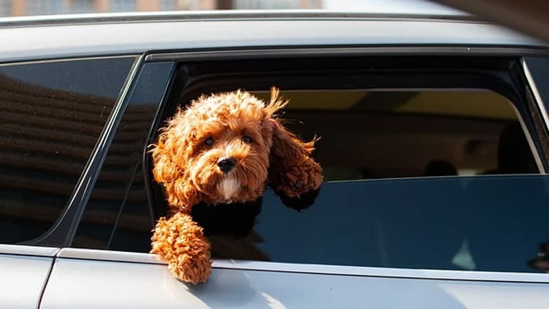
[[[34,238],[32,240],[27,240],[25,242],[20,242],[19,244],[27,245],[40,245],[46,247],[69,247],[73,241],[73,238],[76,233],[76,229],[80,224],[80,219],[82,214],[84,214],[84,209],[86,203],[91,195],[95,181],[103,162],[106,158],[110,143],[113,141],[115,135],[115,128],[120,123],[122,115],[128,106],[130,99],[130,94],[132,93],[135,87],[135,80],[137,79],[138,73],[141,71],[143,65],[144,57],[143,55],[130,54],[126,56],[113,56],[113,57],[126,57],[126,58],[135,58],[126,81],[122,86],[122,89],[119,93],[113,110],[110,112],[106,123],[103,127],[103,130],[100,136],[97,139],[97,143],[91,152],[91,155],[84,165],[84,170],[80,174],[80,178],[75,185],[75,189],[71,194],[69,203],[65,209],[62,210],[60,216],[57,218],[54,225],[52,225],[42,236]],[[101,56],[101,57],[82,57],[79,59],[101,59],[101,58],[111,58],[110,56]],[[59,60],[50,60],[50,61],[67,61],[74,60],[71,59],[59,59]],[[43,62],[43,61],[38,61]],[[33,62],[36,63],[36,62]]]

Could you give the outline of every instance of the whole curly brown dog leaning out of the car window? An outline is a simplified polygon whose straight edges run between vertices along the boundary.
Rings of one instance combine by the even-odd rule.
[[[261,203],[267,186],[289,207],[312,204],[323,180],[310,157],[315,140],[301,141],[284,128],[276,113],[286,104],[275,88],[269,104],[240,90],[202,96],[162,129],[152,148],[152,172],[165,188],[171,216],[157,222],[151,253],[178,279],[197,284],[211,273],[202,218],[208,215],[194,208],[245,209]],[[240,224],[226,216],[211,222]]]

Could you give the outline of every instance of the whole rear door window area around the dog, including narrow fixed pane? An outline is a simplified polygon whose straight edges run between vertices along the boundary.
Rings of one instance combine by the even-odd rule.
[[[506,71],[515,60],[451,60],[148,63],[136,87],[150,95],[130,103],[73,246],[148,252],[167,204],[147,150],[165,120],[201,94],[241,88],[268,101],[275,85],[290,100],[285,126],[320,137],[325,182],[302,211],[267,190],[248,236],[209,237],[213,258],[539,271],[544,133]]]

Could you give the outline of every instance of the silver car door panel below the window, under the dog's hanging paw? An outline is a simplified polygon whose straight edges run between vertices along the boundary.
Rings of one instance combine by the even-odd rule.
[[[100,254],[77,251],[60,255]],[[150,257],[130,255],[119,257],[132,262],[58,258],[41,308],[546,308],[549,299],[549,280],[541,274],[533,277],[544,283],[493,282],[450,278],[463,272],[429,279],[422,270],[385,270],[418,275],[397,277],[381,275],[379,268],[368,275],[373,268],[353,274],[353,267],[344,267],[349,273],[340,275],[284,271],[285,264],[278,263],[263,265],[279,266],[276,270],[246,269],[254,263],[235,261],[214,262],[209,282],[192,286],[174,279],[163,264],[137,263]],[[224,268],[230,264],[236,267]]]

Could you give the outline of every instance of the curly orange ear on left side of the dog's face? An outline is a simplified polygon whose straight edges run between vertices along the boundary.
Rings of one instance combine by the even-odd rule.
[[[192,133],[183,110],[178,109],[161,130],[158,141],[151,145],[152,174],[154,180],[164,186],[170,207],[188,213],[198,203],[198,191],[189,183],[185,170],[192,152],[189,142]]]

